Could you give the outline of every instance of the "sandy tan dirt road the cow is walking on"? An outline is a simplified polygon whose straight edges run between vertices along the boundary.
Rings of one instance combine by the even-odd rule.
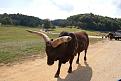
[[[60,78],[54,78],[57,62],[48,66],[46,58],[26,61],[14,66],[0,67],[0,81],[117,81],[121,79],[121,41],[101,41],[89,46],[87,62],[80,56],[80,64],[62,65]]]

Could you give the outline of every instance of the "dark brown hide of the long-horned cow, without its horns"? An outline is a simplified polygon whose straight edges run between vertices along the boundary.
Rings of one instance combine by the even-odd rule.
[[[56,48],[53,48],[51,45],[46,45],[48,65],[52,65],[54,64],[54,61],[59,60],[58,70],[55,74],[55,77],[59,77],[61,65],[68,61],[70,63],[68,73],[71,73],[74,56],[78,53],[76,63],[79,64],[80,52],[82,52],[83,50],[85,51],[84,61],[86,61],[86,53],[89,45],[89,38],[85,32],[61,32],[59,37],[62,36],[70,36],[72,39],[69,42],[60,44]]]

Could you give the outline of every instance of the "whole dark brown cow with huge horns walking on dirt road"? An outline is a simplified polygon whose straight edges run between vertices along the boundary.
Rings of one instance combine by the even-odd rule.
[[[85,32],[61,32],[59,37],[56,39],[50,39],[43,32],[37,32],[32,30],[27,30],[30,33],[35,33],[43,37],[46,44],[46,54],[47,54],[47,64],[53,65],[54,61],[59,61],[58,70],[55,77],[59,77],[60,68],[62,64],[69,61],[70,66],[68,73],[72,72],[72,62],[74,56],[78,53],[78,58],[76,63],[79,64],[80,52],[85,51],[84,61],[86,61],[87,49],[89,46],[89,38]]]

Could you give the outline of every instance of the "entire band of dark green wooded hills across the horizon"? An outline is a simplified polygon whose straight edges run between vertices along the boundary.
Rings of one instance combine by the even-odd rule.
[[[34,16],[22,14],[0,14],[0,23],[4,25],[22,25],[30,27],[44,27],[46,29],[53,26],[59,27],[78,27],[81,29],[97,30],[97,31],[116,31],[121,29],[120,18],[110,18],[92,13],[78,14],[68,17],[67,19],[40,19]]]

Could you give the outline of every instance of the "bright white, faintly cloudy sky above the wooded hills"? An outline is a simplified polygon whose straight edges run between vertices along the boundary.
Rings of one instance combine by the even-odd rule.
[[[0,14],[3,13],[50,20],[84,13],[121,18],[121,0],[0,0]]]

